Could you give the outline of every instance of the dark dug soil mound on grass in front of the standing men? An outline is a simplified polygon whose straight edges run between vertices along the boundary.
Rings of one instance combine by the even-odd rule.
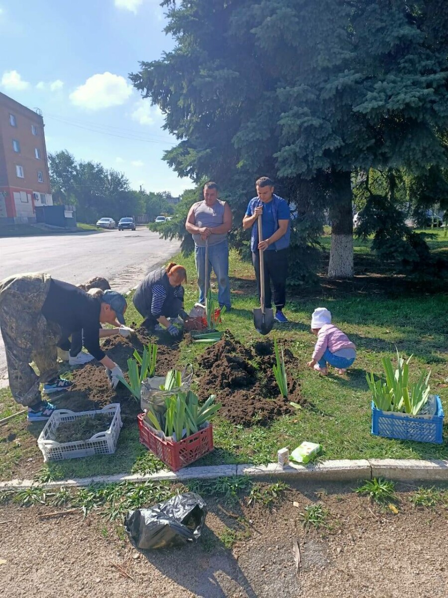
[[[289,349],[284,349],[289,396],[278,390],[272,366],[275,364],[274,344],[257,341],[245,347],[230,332],[218,343],[206,349],[198,358],[204,373],[198,380],[200,397],[216,394],[222,403],[220,414],[243,426],[269,425],[274,419],[294,408],[289,402],[303,404],[296,372],[299,363]]]

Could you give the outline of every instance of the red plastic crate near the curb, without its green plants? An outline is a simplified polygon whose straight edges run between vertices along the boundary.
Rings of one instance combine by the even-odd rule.
[[[213,450],[213,426],[211,423],[207,428],[175,443],[155,434],[145,423],[145,413],[137,415],[137,422],[139,423],[140,442],[159,457],[165,465],[168,465],[171,471],[177,471]]]

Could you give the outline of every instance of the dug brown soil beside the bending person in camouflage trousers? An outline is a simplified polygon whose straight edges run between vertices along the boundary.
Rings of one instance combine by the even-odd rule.
[[[143,348],[149,343],[158,343],[157,346],[157,376],[164,376],[168,370],[176,367],[179,361],[179,350],[174,345],[172,348],[159,344],[160,340],[150,335],[145,328],[137,328],[135,334],[128,338],[119,335],[106,338],[103,349],[107,355],[127,372],[127,360],[133,356],[134,350],[142,355]],[[127,374],[125,374],[127,379]],[[59,408],[72,411],[90,411],[100,409],[111,403],[121,404],[122,419],[130,416],[135,420],[140,413],[140,404],[127,388],[119,384],[115,390],[109,388],[103,365],[94,361],[77,370],[73,370],[73,386],[58,402]]]

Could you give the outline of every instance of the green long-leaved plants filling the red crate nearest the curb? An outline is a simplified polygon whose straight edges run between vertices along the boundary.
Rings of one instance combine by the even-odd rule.
[[[180,387],[180,372],[170,370],[162,390]],[[198,395],[192,390],[176,392],[165,398],[165,411],[157,413],[149,405],[146,416],[152,427],[163,432],[166,437],[176,436],[180,440],[184,435],[190,436],[198,432],[206,422],[210,422],[222,405],[214,403],[215,395],[210,395],[203,405],[199,405]],[[185,434],[184,434],[185,432]]]

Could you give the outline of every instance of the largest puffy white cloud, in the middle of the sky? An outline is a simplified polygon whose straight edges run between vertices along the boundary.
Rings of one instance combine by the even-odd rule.
[[[83,85],[70,93],[75,106],[87,110],[100,110],[123,104],[132,93],[132,86],[121,75],[106,71],[89,77]]]

